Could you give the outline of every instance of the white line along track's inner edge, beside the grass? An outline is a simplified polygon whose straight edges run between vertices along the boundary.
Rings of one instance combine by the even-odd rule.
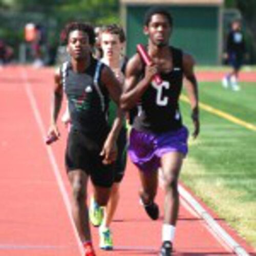
[[[179,185],[181,197],[197,212],[197,214],[207,223],[211,230],[225,242],[226,245],[238,256],[249,256],[247,251],[238,244],[219,224],[212,218],[207,210],[182,186]]]

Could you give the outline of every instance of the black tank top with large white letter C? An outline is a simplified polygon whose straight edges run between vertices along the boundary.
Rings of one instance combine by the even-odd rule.
[[[142,95],[133,125],[136,130],[163,133],[182,126],[178,102],[183,79],[182,51],[173,47],[170,47],[170,51],[173,69],[160,73],[162,84],[152,82]]]

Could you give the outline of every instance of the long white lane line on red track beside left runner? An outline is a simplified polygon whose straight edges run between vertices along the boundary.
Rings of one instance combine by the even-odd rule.
[[[76,238],[76,241],[77,241],[77,245],[79,247],[80,254],[83,255],[83,247],[82,247],[82,243],[80,242],[80,238],[79,238],[79,235],[78,235],[78,232],[77,232],[77,229],[76,229],[73,217],[72,217],[71,204],[70,204],[68,193],[65,189],[65,185],[64,185],[62,177],[60,175],[60,170],[59,170],[59,167],[57,165],[56,159],[54,157],[52,148],[51,148],[51,146],[46,146],[45,141],[44,141],[44,137],[46,135],[46,130],[45,130],[44,124],[42,122],[42,118],[41,118],[41,115],[40,115],[40,112],[38,110],[38,106],[37,106],[35,97],[33,95],[32,89],[31,89],[31,83],[28,81],[28,75],[27,75],[27,72],[24,68],[22,68],[20,70],[20,73],[22,75],[22,79],[23,79],[23,82],[25,84],[25,90],[26,90],[26,94],[29,98],[29,103],[31,105],[34,117],[36,119],[36,123],[37,123],[38,128],[39,128],[40,133],[41,133],[42,142],[45,145],[50,163],[52,165],[52,170],[53,170],[54,176],[56,178],[58,188],[60,190],[60,194],[61,194],[62,199],[64,201],[64,204],[66,206],[66,210],[67,210],[69,220],[71,222],[71,225],[72,225],[72,228],[73,228],[73,231],[74,231],[74,234],[75,234],[75,238]]]

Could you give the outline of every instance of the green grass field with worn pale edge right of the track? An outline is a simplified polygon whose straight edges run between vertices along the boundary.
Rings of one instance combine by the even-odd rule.
[[[200,102],[256,128],[256,84],[242,82],[241,88],[233,92],[223,89],[220,82],[201,82]],[[191,132],[189,104],[181,101],[181,108]],[[256,247],[256,131],[200,111],[201,133],[197,140],[189,141],[181,179]]]

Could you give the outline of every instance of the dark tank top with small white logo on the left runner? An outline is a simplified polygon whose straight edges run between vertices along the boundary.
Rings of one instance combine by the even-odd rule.
[[[82,73],[72,70],[70,62],[61,66],[63,89],[68,98],[72,129],[91,138],[106,135],[109,125],[106,112],[109,108],[109,92],[100,82],[104,64],[91,57],[91,65]]]

